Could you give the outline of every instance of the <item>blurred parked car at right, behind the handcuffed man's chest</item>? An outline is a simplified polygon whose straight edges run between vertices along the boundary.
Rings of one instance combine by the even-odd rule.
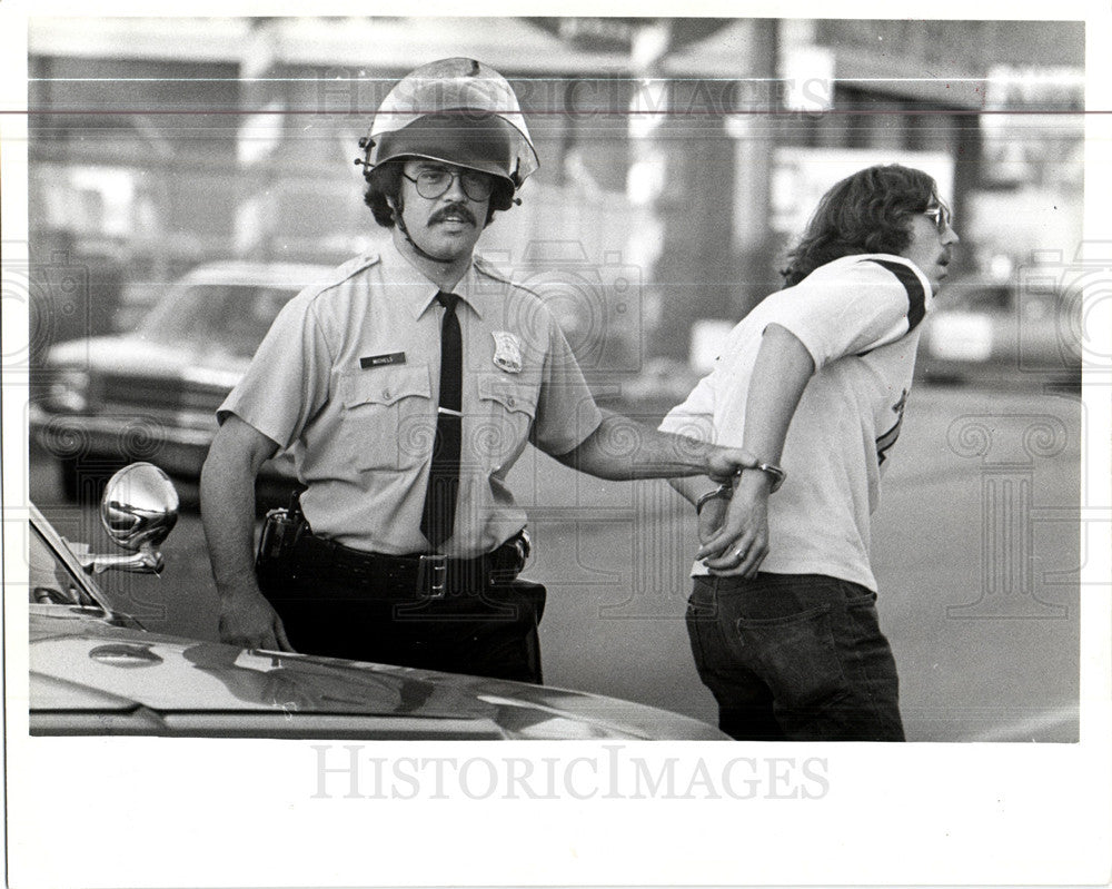
[[[929,383],[1081,388],[1080,306],[1033,278],[949,281],[924,323]]]

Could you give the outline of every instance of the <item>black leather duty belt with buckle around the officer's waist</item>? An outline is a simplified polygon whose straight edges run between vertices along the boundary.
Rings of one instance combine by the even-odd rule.
[[[294,572],[358,587],[384,599],[441,599],[507,584],[524,567],[519,536],[477,559],[444,555],[385,555],[301,534],[292,549]]]

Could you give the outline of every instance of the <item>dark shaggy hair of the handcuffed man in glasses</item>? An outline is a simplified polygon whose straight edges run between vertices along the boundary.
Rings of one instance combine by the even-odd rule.
[[[788,254],[784,286],[843,256],[902,254],[911,244],[910,216],[939,201],[937,186],[922,170],[898,164],[868,167],[823,195],[800,244]]]

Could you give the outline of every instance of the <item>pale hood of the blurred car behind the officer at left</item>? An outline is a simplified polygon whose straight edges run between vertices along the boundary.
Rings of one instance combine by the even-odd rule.
[[[188,339],[159,343],[140,334],[123,334],[59,343],[50,349],[50,363],[147,377],[173,376],[231,388],[246,373],[250,358],[232,355],[210,343]]]

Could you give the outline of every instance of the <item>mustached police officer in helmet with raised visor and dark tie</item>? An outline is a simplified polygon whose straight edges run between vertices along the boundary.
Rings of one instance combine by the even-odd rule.
[[[393,247],[295,297],[218,411],[201,504],[221,639],[539,682],[544,589],[516,580],[505,483],[526,443],[607,478],[753,461],[600,411],[540,300],[473,256],[538,166],[500,75],[417,69],[360,147]],[[304,518],[256,565],[254,480],[279,450]]]

